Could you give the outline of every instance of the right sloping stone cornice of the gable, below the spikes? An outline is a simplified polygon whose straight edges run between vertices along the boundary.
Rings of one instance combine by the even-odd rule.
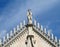
[[[52,44],[55,47],[58,47],[58,42],[55,42],[55,40],[52,40],[48,34],[45,34],[44,31],[41,31],[37,27],[33,26],[33,30],[35,30],[38,35],[40,35],[42,38],[44,38],[46,41],[48,41],[50,44]]]

